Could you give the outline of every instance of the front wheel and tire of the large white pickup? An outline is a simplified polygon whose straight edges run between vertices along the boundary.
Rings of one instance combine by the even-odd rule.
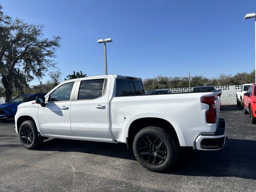
[[[26,149],[36,149],[43,142],[40,140],[36,125],[30,120],[26,120],[20,125],[19,137],[21,144]]]

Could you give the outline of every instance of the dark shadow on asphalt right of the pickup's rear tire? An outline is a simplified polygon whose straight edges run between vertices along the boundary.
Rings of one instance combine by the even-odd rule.
[[[221,150],[184,150],[169,174],[256,180],[255,147],[255,140],[228,139]]]

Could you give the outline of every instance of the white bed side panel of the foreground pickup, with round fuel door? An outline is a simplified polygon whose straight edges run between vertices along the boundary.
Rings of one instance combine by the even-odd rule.
[[[154,117],[167,120],[174,127],[180,146],[193,146],[200,133],[214,133],[216,124],[206,123],[209,106],[201,103],[203,95],[212,93],[160,94],[114,97],[111,102],[112,132],[119,142],[126,142],[130,124],[138,118]],[[117,113],[125,115],[117,122]]]

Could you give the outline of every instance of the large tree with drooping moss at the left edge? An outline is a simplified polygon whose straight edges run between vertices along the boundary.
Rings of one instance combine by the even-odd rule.
[[[60,46],[60,37],[44,38],[43,26],[13,20],[2,12],[0,5],[0,78],[6,102],[13,89],[20,93],[34,77],[40,79],[49,68],[56,66],[52,58]]]

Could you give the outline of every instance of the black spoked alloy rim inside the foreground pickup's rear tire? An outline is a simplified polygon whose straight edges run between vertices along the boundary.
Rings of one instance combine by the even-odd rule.
[[[139,153],[148,164],[160,165],[166,160],[167,148],[160,138],[145,135],[140,140]]]

